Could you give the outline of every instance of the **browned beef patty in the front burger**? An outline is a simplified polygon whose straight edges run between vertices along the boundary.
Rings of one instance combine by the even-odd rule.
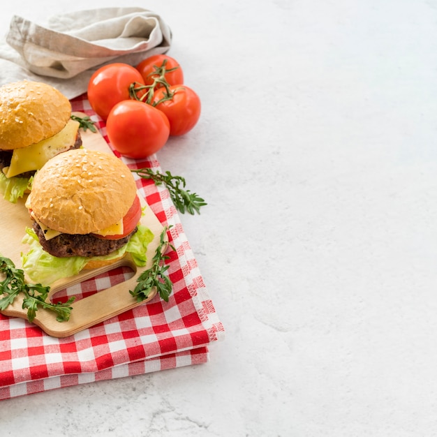
[[[57,237],[46,240],[43,230],[36,221],[34,221],[33,228],[43,249],[50,253],[50,255],[59,258],[108,255],[124,246],[138,230],[138,228],[135,228],[129,235],[120,239],[103,239],[94,237],[92,234],[60,234]]]

